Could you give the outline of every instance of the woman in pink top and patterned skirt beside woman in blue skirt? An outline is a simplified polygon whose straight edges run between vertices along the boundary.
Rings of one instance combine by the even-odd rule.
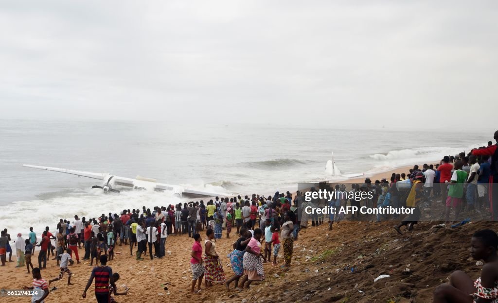
[[[245,283],[244,288],[249,288],[252,281],[264,280],[263,264],[266,263],[263,254],[261,254],[261,243],[259,239],[263,232],[261,229],[254,229],[254,234],[246,247],[246,252],[244,253],[244,273],[248,275],[248,281]],[[263,262],[261,263],[261,258]]]

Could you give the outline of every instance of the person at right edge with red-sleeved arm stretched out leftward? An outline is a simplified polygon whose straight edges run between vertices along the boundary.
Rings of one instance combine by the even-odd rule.
[[[493,138],[498,144],[498,130],[495,131]],[[489,189],[490,192],[490,211],[492,220],[498,220],[498,148],[497,144],[481,149],[473,149],[472,154],[475,156],[491,156],[491,171]]]

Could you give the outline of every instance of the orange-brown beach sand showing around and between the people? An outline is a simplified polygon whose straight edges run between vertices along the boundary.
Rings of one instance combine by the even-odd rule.
[[[368,177],[374,181],[376,179],[388,178],[391,173],[407,173],[410,168],[411,166],[401,167],[392,171]],[[353,179],[348,182],[363,182],[365,177]],[[129,246],[117,246],[115,250],[115,260],[109,261],[108,265],[113,268],[114,272],[118,272],[121,275],[121,279],[117,283],[118,287],[123,289],[127,286],[130,289],[126,297],[121,296],[116,298],[118,302],[163,302],[165,300],[170,302],[180,302],[184,300],[189,300],[191,302],[240,302],[243,298],[250,299],[253,296],[258,298],[257,302],[261,302],[261,300],[264,300],[263,298],[269,294],[275,293],[281,294],[279,298],[281,301],[293,302],[293,297],[285,295],[284,289],[278,285],[282,282],[281,280],[287,281],[284,282],[284,284],[289,282],[302,282],[303,280],[299,279],[299,276],[302,275],[301,271],[308,273],[307,267],[304,269],[301,268],[304,266],[303,264],[306,258],[320,258],[320,256],[327,254],[330,250],[337,249],[338,246],[344,250],[353,249],[362,251],[367,249],[367,247],[361,247],[358,245],[350,247],[350,244],[348,244],[351,241],[360,241],[364,238],[364,236],[358,234],[358,232],[361,234],[361,231],[357,230],[359,226],[361,226],[360,230],[368,230],[370,237],[375,237],[377,239],[376,241],[380,241],[380,238],[384,237],[386,240],[390,238],[394,239],[397,237],[397,234],[395,234],[395,232],[393,233],[393,230],[390,228],[390,224],[392,224],[392,222],[381,222],[378,224],[369,222],[343,222],[336,224],[336,227],[332,232],[328,232],[326,230],[327,226],[325,226],[325,224],[320,227],[304,229],[300,232],[299,240],[296,241],[294,245],[295,253],[293,258],[296,260],[294,264],[299,266],[292,267],[288,272],[283,272],[279,266],[272,267],[270,263],[265,264],[264,269],[267,277],[266,281],[259,284],[254,283],[251,290],[244,291],[242,293],[235,291],[227,293],[225,287],[222,285],[205,289],[201,292],[201,294],[192,295],[189,293],[191,283],[189,260],[193,239],[189,238],[187,235],[168,236],[166,241],[167,253],[165,258],[161,260],[150,260],[147,256],[144,261],[136,261],[134,256],[131,257],[129,255]],[[369,226],[375,226],[375,228],[371,230]],[[376,231],[375,229],[378,230]],[[388,234],[388,236],[386,234]],[[201,232],[201,236],[204,239],[205,233]],[[418,237],[420,237],[420,234]],[[227,255],[233,250],[232,244],[237,238],[238,237],[235,234],[235,231],[232,232],[230,239],[226,239],[224,233],[224,237],[216,243],[217,251],[221,256],[227,278],[233,275],[230,268],[230,259]],[[136,249],[134,249],[133,254],[135,254],[135,251]],[[84,249],[80,249],[79,254],[82,256],[84,254]],[[38,252],[36,252],[35,256],[32,258],[32,262],[35,267],[38,266],[37,255]],[[348,260],[347,254],[343,255],[341,253],[340,255],[340,258],[344,260],[345,263],[353,263],[357,261],[356,257],[352,257]],[[15,253],[13,259],[15,260]],[[52,259],[52,257],[49,259]],[[385,262],[390,261],[387,260]],[[282,263],[282,252],[280,252],[279,265]],[[32,281],[31,274],[26,273],[25,267],[14,268],[14,266],[15,262],[12,262],[7,263],[7,266],[2,268],[6,274],[6,279],[4,279],[1,287],[3,289],[20,289],[24,286],[30,286]],[[314,269],[315,267],[316,266],[312,266],[309,268],[311,273],[316,273]],[[318,273],[323,270],[323,266],[320,268],[321,269],[318,269]],[[67,276],[65,276],[61,281],[53,283],[50,288],[55,286],[57,290],[50,292],[50,295],[46,299],[47,303],[69,303],[74,300],[92,302],[93,286],[88,292],[87,299],[81,298],[84,286],[88,281],[91,272],[89,262],[84,261],[81,264],[75,263],[70,267],[70,269],[73,272],[72,283],[74,286],[66,285]],[[48,260],[47,269],[42,271],[42,277],[48,281],[49,279],[56,277],[58,273],[59,270],[56,266],[55,260]],[[314,276],[317,279],[318,277],[323,278],[321,275]],[[341,279],[335,281],[333,276],[329,278],[330,280],[327,280],[327,283],[330,282],[331,285],[341,283]],[[270,285],[273,285],[273,287],[269,287]],[[167,287],[168,290],[165,291],[164,287]],[[259,300],[259,298],[261,298],[261,300]],[[11,302],[26,302],[26,300],[28,300],[27,298],[9,299],[11,299]]]

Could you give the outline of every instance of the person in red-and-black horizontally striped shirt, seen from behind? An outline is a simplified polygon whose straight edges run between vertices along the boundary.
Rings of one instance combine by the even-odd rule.
[[[116,289],[116,285],[113,280],[113,269],[107,264],[107,256],[103,255],[100,257],[100,265],[94,267],[90,279],[88,280],[87,286],[83,291],[83,298],[87,297],[87,290],[92,285],[95,278],[95,297],[98,303],[109,303],[109,284]]]

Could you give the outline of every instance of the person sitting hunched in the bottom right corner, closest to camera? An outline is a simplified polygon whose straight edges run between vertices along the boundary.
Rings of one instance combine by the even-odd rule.
[[[475,282],[463,271],[455,271],[450,283],[434,290],[433,303],[498,303],[498,235],[491,229],[475,232],[471,238],[471,256],[483,260],[481,277]]]

